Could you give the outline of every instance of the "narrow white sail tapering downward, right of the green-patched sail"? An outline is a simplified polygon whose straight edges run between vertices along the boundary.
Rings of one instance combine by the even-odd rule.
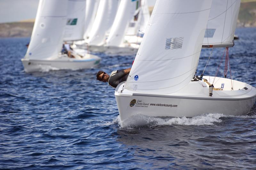
[[[86,40],[92,30],[93,21],[99,7],[99,0],[86,0],[84,39]]]

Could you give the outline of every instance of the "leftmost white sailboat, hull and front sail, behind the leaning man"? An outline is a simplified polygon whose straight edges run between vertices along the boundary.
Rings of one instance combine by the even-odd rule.
[[[85,53],[69,58],[60,51],[66,25],[76,25],[77,19],[67,18],[68,0],[40,0],[27,53],[21,59],[26,72],[59,69],[93,68],[100,63],[98,56]]]

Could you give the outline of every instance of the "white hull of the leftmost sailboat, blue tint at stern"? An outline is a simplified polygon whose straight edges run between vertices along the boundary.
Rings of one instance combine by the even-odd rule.
[[[49,70],[94,68],[100,64],[100,57],[92,54],[85,54],[83,58],[69,58],[67,55],[59,55],[57,58],[51,60],[22,58],[21,61],[25,72],[30,73]]]

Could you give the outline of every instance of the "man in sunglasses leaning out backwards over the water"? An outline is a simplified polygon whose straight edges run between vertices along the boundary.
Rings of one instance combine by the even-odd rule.
[[[116,71],[112,71],[112,73],[110,75],[108,75],[107,73],[103,72],[103,71],[99,71],[97,73],[97,80],[99,81],[103,81],[103,82],[108,82],[109,86],[116,88],[116,86],[123,82],[126,81],[129,73],[130,73],[131,68],[127,68],[124,70],[116,70]]]

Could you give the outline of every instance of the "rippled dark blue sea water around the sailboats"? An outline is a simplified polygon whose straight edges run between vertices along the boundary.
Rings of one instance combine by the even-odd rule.
[[[236,35],[232,78],[255,87],[256,28]],[[154,124],[123,129],[114,89],[95,75],[128,68],[133,56],[99,54],[100,68],[25,73],[20,59],[28,42],[0,39],[0,168],[256,169],[256,105],[246,116],[152,118]],[[215,75],[220,53],[213,52],[205,75]],[[199,75],[208,56],[202,50]]]

